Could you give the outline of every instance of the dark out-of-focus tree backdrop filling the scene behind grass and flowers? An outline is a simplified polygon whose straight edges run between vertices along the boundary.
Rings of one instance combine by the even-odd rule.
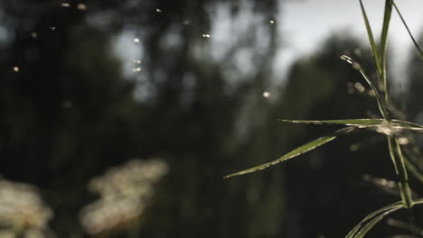
[[[0,2],[0,23],[13,35],[0,44],[0,173],[40,188],[54,211],[50,227],[58,237],[87,236],[78,216],[96,198],[87,189],[89,179],[133,158],[160,157],[170,168],[139,221],[145,237],[340,237],[374,207],[400,199],[395,188],[362,179],[367,174],[396,179],[385,135],[372,132],[343,136],[285,166],[221,179],[339,129],[278,118],[377,114],[366,80],[339,59],[361,42],[334,35],[313,55],[298,59],[280,86],[269,69],[281,42],[267,21],[277,14],[275,1],[246,1],[265,20],[248,22],[249,31],[240,31],[219,60],[211,57],[217,46],[202,34],[215,26],[213,7],[223,1],[151,0],[136,7],[129,2],[92,1],[87,11],[57,1]],[[222,7],[236,18],[246,6]],[[112,20],[87,20],[96,15]],[[145,46],[143,71],[129,77],[122,74],[126,62],[110,50],[124,29],[139,33]],[[258,30],[265,33],[257,39]],[[166,44],[170,36],[179,43]],[[265,39],[263,48],[258,40]],[[246,49],[253,69],[242,74],[235,56]],[[371,54],[362,52],[358,62],[360,57]],[[423,73],[416,55],[410,62],[410,87],[401,97],[406,100],[390,100],[409,108],[409,118],[399,119],[414,122],[423,112],[418,103]],[[379,68],[371,63],[364,69]],[[140,99],[143,88],[149,93]],[[266,90],[275,96],[264,98]],[[422,191],[410,179],[411,188]]]

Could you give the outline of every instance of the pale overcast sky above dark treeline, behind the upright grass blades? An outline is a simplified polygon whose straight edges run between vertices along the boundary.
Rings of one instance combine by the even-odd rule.
[[[363,0],[371,28],[379,38],[385,0]],[[423,30],[423,1],[396,1],[415,37]],[[313,51],[324,38],[340,29],[349,29],[353,35],[367,37],[358,0],[291,0],[283,5],[279,27],[288,35],[287,50],[296,58]],[[412,41],[396,12],[392,13],[389,44],[393,47],[394,63],[401,64],[406,58]],[[367,41],[367,38],[366,38]],[[397,68],[396,73],[401,69]]]

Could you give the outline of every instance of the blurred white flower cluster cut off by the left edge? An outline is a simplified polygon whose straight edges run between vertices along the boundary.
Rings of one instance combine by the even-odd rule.
[[[0,180],[0,237],[7,233],[42,233],[48,229],[52,210],[44,206],[35,188]],[[11,231],[14,232],[11,232]],[[27,236],[27,235],[24,235]],[[12,236],[14,237],[14,236]]]

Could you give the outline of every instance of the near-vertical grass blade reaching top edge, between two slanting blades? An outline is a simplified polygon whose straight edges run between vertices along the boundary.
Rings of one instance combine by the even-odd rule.
[[[390,15],[392,13],[393,0],[385,1],[385,14],[383,14],[383,26],[381,32],[381,78],[385,91],[385,100],[388,101],[388,80],[386,78],[386,48],[388,44],[388,29],[390,28]]]

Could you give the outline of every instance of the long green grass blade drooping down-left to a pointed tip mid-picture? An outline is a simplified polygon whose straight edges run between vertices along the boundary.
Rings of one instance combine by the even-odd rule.
[[[258,171],[258,170],[261,170],[261,169],[268,169],[268,167],[273,166],[277,163],[280,163],[280,162],[285,161],[285,160],[292,159],[292,158],[294,158],[294,157],[296,157],[300,154],[303,154],[307,151],[312,151],[315,148],[317,148],[317,147],[319,147],[319,146],[321,146],[321,145],[323,145],[327,142],[332,142],[332,141],[334,141],[334,139],[336,139],[336,137],[338,137],[342,134],[345,134],[345,133],[351,133],[354,129],[355,129],[355,127],[353,127],[353,126],[345,127],[343,129],[335,131],[334,133],[320,137],[320,138],[316,139],[315,141],[305,143],[304,145],[296,148],[293,151],[288,152],[287,154],[285,154],[284,156],[280,157],[277,160],[273,160],[271,162],[268,162],[268,163],[265,163],[265,164],[262,164],[262,165],[258,165],[256,167],[253,167],[253,168],[250,168],[250,169],[241,170],[240,172],[232,173],[232,174],[227,175],[223,178],[230,178],[230,177],[234,177],[234,176],[240,176],[240,175],[243,175],[243,174],[252,173],[252,172],[255,172],[255,171]]]

